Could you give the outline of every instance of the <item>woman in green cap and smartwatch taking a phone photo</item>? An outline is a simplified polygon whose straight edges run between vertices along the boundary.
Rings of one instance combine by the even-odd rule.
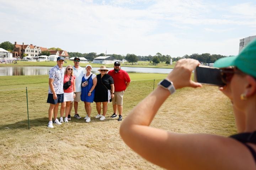
[[[177,170],[256,170],[256,40],[233,57],[217,60],[214,67],[229,69],[219,87],[233,104],[238,134],[178,134],[150,127],[160,106],[183,87],[201,87],[191,80],[199,66],[181,59],[159,86],[133,108],[120,127],[124,142],[150,162]]]

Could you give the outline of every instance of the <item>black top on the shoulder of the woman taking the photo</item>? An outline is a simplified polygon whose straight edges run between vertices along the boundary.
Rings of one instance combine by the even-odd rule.
[[[255,163],[256,163],[256,152],[250,145],[247,144],[247,143],[256,144],[256,131],[251,132],[251,133],[236,134],[236,135],[232,135],[230,137],[243,143],[250,150],[252,156],[254,157]]]

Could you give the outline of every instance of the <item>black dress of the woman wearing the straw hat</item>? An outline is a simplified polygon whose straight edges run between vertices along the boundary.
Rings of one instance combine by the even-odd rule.
[[[98,74],[96,77],[97,77],[97,84],[95,87],[94,102],[107,102],[108,101],[108,90],[111,90],[110,85],[114,84],[114,80],[108,74],[103,75],[102,78],[101,78],[101,74]]]

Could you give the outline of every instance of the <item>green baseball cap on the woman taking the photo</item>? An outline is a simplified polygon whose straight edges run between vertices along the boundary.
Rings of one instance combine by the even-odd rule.
[[[256,39],[251,41],[238,56],[224,57],[214,62],[213,67],[235,66],[256,78]]]

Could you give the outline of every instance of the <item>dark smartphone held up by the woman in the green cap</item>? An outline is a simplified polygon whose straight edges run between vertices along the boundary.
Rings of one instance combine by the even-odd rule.
[[[194,70],[194,81],[206,85],[224,86],[219,68],[198,66]]]

